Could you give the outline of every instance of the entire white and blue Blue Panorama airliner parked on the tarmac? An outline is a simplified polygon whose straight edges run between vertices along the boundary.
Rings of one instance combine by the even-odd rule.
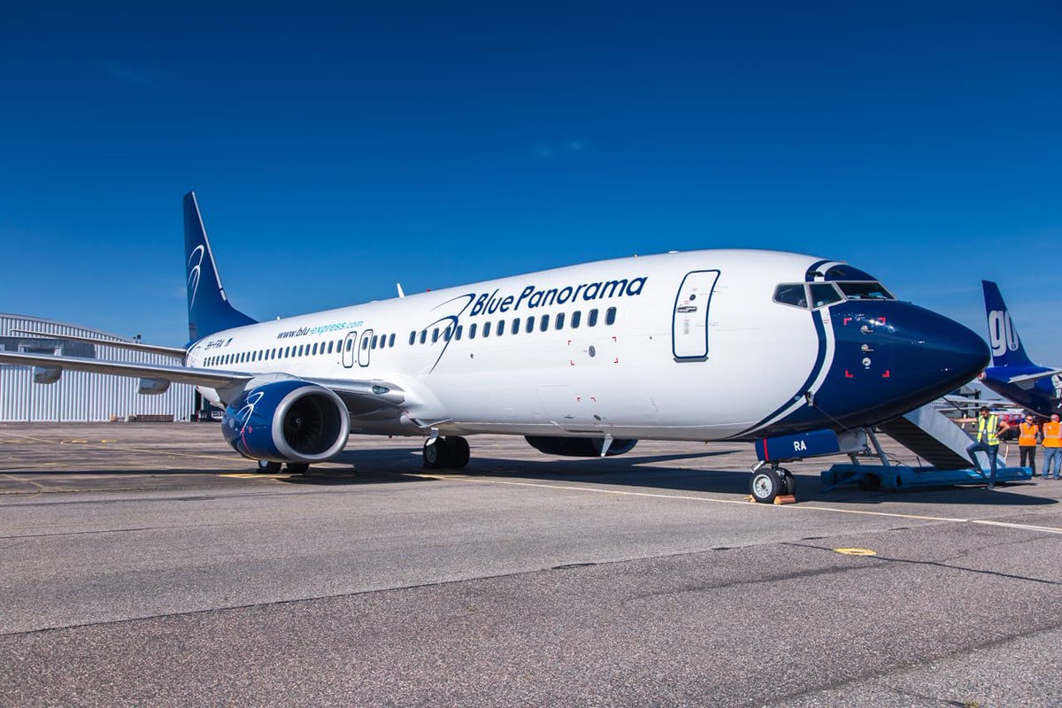
[[[192,193],[184,214],[190,343],[122,345],[179,363],[0,363],[42,382],[69,368],[139,377],[143,393],[194,384],[262,471],[306,471],[350,433],[424,437],[425,466],[448,468],[475,433],[579,456],[737,439],[769,463],[752,489],[771,501],[794,488],[780,460],[836,452],[837,433],[944,395],[989,356],[863,271],[768,251],[606,260],[257,323],[228,303]]]

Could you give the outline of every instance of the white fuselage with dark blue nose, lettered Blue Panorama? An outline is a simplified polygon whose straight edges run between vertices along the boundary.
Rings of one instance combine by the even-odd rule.
[[[870,277],[778,252],[617,259],[223,330],[187,365],[402,390],[398,411],[352,404],[355,433],[690,441],[872,425],[983,365],[970,330],[846,279]]]

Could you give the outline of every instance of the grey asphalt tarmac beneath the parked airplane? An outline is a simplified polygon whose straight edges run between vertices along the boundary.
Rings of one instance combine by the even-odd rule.
[[[749,444],[469,443],[304,478],[216,424],[0,424],[0,705],[1062,706],[1062,482],[825,459],[775,506]]]

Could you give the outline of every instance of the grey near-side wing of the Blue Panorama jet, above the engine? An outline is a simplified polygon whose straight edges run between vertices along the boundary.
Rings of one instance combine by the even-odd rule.
[[[14,351],[0,351],[0,364],[91,372],[93,374],[109,374],[112,376],[132,378],[165,379],[174,383],[190,383],[210,388],[241,385],[259,376],[270,375],[261,372],[189,368],[187,366],[169,366],[166,364],[141,364],[126,361],[85,359],[83,357],[56,357],[53,355],[20,353]],[[372,415],[383,410],[393,410],[406,400],[406,392],[400,386],[387,381],[295,378],[335,391],[343,399],[343,402],[347,404],[352,415],[356,417]]]

